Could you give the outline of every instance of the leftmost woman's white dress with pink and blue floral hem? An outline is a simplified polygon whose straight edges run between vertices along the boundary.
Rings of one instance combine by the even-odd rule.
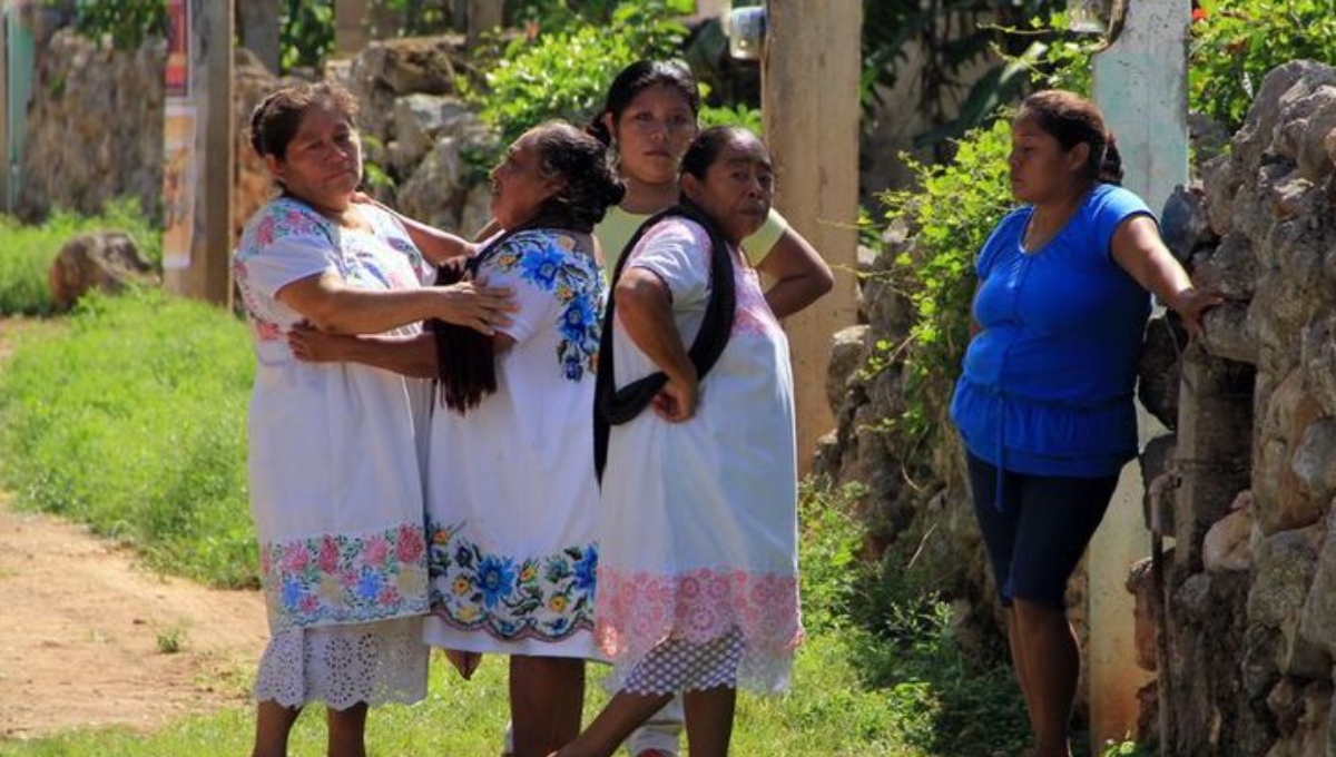
[[[346,709],[426,693],[415,434],[426,422],[428,383],[297,360],[286,332],[302,316],[275,298],[323,271],[367,290],[429,280],[433,271],[402,224],[373,206],[358,210],[369,230],[341,228],[279,198],[251,218],[234,258],[257,358],[250,499],[271,633],[255,698],[283,706]]]

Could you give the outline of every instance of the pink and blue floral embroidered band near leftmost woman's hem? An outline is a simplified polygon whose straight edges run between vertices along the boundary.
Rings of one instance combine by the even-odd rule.
[[[428,610],[422,526],[322,534],[261,545],[261,575],[278,630],[357,623]]]

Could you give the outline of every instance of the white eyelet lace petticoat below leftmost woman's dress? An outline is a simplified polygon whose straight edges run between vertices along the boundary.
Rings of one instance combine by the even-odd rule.
[[[282,632],[261,657],[255,701],[411,704],[426,696],[428,653],[420,617]]]

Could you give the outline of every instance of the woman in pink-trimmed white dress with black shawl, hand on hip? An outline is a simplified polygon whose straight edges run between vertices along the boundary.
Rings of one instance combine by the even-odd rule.
[[[676,692],[692,757],[727,754],[736,688],[784,689],[803,636],[788,347],[737,248],[770,211],[770,156],[751,132],[716,127],[681,171],[704,226],[668,216],[643,230],[613,290],[613,355],[601,356],[617,389],[667,378],[652,413],[612,427],[603,474],[597,638],[619,692],[561,757],[612,754]],[[709,328],[712,239],[731,260],[736,310],[699,376],[688,344]]]

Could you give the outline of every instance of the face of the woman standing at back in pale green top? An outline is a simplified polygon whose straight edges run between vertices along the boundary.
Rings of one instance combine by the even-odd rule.
[[[677,180],[677,164],[696,139],[696,113],[687,97],[667,84],[653,84],[632,97],[615,120],[604,115],[617,140],[621,175],[645,184]]]

